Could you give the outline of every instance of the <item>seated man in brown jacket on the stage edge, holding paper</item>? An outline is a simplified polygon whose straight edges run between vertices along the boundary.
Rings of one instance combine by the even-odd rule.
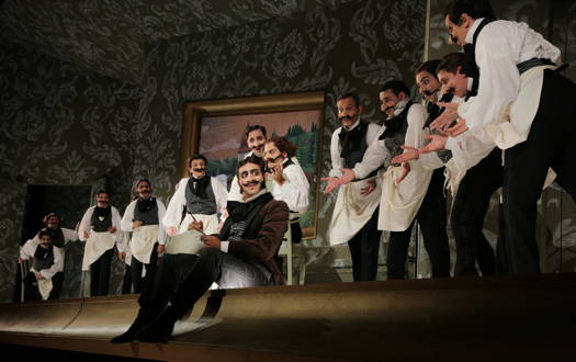
[[[222,289],[283,284],[275,259],[287,229],[289,208],[267,192],[264,165],[250,156],[238,163],[242,201],[229,201],[228,218],[218,236],[203,236],[200,254],[166,256],[154,287],[140,295],[140,309],[129,329],[113,343],[134,340],[158,342],[172,333],[173,326],[216,282]],[[185,258],[191,268],[182,268]],[[183,269],[188,271],[183,272]],[[184,273],[184,275],[182,275]],[[183,280],[178,283],[178,280]],[[170,306],[167,307],[168,302]]]

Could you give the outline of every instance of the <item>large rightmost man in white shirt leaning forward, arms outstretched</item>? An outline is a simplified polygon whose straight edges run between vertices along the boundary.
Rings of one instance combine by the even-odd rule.
[[[452,1],[447,8],[448,32],[468,55],[467,71],[479,71],[479,84],[477,95],[455,109],[474,137],[448,138],[445,148],[478,160],[495,145],[506,150],[502,196],[509,271],[534,273],[540,271],[537,201],[549,168],[576,199],[576,86],[555,71],[558,48],[524,23],[493,21],[490,12],[487,1]]]

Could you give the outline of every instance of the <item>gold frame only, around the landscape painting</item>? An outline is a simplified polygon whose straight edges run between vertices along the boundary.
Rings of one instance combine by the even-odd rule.
[[[310,207],[314,207],[312,214],[313,226],[303,228],[303,238],[314,239],[316,237],[316,229],[318,225],[320,179],[319,160],[323,157],[321,150],[324,148],[324,91],[187,102],[184,104],[183,112],[184,120],[182,124],[178,176],[181,178],[189,176],[187,162],[192,155],[199,152],[200,150],[202,140],[202,122],[206,117],[208,117],[206,120],[210,120],[214,117],[225,118],[226,116],[229,116],[229,121],[233,121],[235,117],[245,120],[246,116],[249,115],[258,115],[262,117],[267,114],[271,114],[276,117],[285,116],[286,120],[290,120],[291,115],[295,115],[296,112],[317,112],[317,125],[315,128],[316,138],[315,145],[313,145],[313,147],[316,149],[316,160],[314,162],[314,174],[312,176],[315,182],[310,182],[310,194],[313,194],[310,197],[314,201],[310,203]],[[229,122],[226,118],[225,121]],[[285,127],[284,122],[282,125]],[[241,136],[244,137],[244,134]],[[211,162],[208,158],[208,166],[210,163]],[[308,174],[308,177],[310,176]]]

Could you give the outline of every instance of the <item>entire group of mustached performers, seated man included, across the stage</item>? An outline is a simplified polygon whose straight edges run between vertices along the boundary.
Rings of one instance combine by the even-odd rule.
[[[576,86],[560,72],[558,48],[524,23],[497,20],[488,1],[452,1],[444,22],[464,52],[417,68],[426,105],[410,98],[408,84],[389,80],[379,91],[385,114],[379,125],[362,120],[357,94],[338,98],[341,126],[331,136],[332,169],[323,179],[325,193],[338,192],[327,239],[348,244],[354,281],[376,279],[382,231],[389,231],[387,279],[405,278],[415,222],[432,278],[450,276],[445,189],[455,276],[538,273],[535,214],[543,188],[555,180],[576,199]],[[251,152],[229,191],[206,176],[208,161],[196,155],[168,207],[151,196],[148,180],[139,180],[122,217],[105,192],[86,212],[78,233],[86,240],[82,270],[90,270],[91,294],[108,293],[114,245],[121,259],[132,259],[126,274],[142,293],[136,320],[113,342],[165,340],[214,283],[283,283],[278,251],[286,230],[293,241],[302,238],[298,215],[308,207],[309,183],[287,139],[267,138],[264,127],[252,125],[246,140]],[[499,188],[495,251],[482,230]],[[20,257],[33,260],[26,281],[36,282],[45,298],[49,289],[41,284],[61,285],[59,248],[75,238],[71,230],[54,233],[54,217]],[[167,236],[191,229],[202,233],[205,248],[166,253],[157,263]],[[129,242],[118,230],[132,233]]]

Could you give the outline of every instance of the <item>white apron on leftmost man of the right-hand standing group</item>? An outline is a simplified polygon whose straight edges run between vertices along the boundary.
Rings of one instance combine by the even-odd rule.
[[[376,189],[366,196],[362,196],[360,192],[368,186],[368,180],[376,180]],[[381,191],[382,185],[377,177],[350,182],[339,188],[328,228],[328,239],[331,246],[347,242],[360,231],[379,206]]]

